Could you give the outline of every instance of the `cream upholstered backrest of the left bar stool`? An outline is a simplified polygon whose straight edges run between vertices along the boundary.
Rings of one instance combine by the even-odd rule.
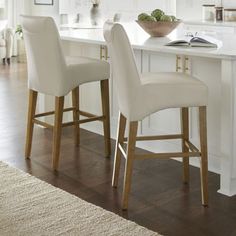
[[[54,96],[64,95],[66,63],[57,26],[51,17],[21,16],[28,86]]]

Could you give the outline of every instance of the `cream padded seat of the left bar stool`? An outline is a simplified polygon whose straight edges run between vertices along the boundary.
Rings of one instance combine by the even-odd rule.
[[[110,65],[106,61],[87,57],[66,57],[66,66],[71,89],[83,83],[110,77]]]

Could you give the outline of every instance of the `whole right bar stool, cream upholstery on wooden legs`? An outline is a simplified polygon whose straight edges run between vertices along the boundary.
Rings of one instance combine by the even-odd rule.
[[[122,25],[106,22],[104,37],[111,55],[111,64],[117,88],[120,109],[119,127],[113,170],[113,187],[118,185],[121,156],[125,158],[122,208],[128,208],[134,160],[146,158],[183,158],[183,180],[189,180],[189,157],[201,158],[202,204],[208,205],[207,123],[208,89],[200,80],[184,73],[150,73],[140,75],[129,39]],[[189,140],[189,107],[199,107],[200,146],[198,150]],[[167,108],[182,111],[182,132],[176,135],[137,137],[138,121]],[[128,138],[125,128],[128,123]],[[182,152],[140,155],[135,153],[136,141],[181,139]],[[127,148],[124,143],[127,141]]]

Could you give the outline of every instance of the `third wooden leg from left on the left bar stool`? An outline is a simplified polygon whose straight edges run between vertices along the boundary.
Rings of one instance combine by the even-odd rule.
[[[80,143],[80,125],[79,120],[79,87],[72,91],[72,106],[76,108],[73,110],[73,121],[75,122],[75,145],[79,146]]]

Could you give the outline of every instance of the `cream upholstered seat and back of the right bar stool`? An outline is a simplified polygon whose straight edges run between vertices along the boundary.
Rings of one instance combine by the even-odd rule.
[[[192,76],[183,73],[140,75],[122,25],[106,22],[104,37],[111,54],[119,109],[129,121],[142,120],[166,108],[207,105],[207,86]]]

